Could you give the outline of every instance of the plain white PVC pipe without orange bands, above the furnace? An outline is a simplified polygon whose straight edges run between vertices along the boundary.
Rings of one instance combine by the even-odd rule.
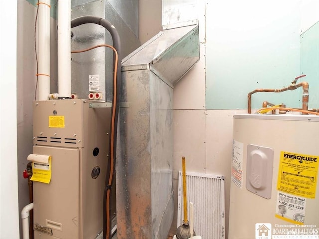
[[[59,0],[59,97],[71,97],[71,0]]]

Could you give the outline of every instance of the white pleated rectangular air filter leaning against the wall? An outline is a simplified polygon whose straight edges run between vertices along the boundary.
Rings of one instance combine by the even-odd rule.
[[[186,172],[187,214],[189,202],[194,204],[194,231],[204,239],[225,238],[225,185],[224,176]],[[182,224],[183,180],[178,177],[177,226]]]

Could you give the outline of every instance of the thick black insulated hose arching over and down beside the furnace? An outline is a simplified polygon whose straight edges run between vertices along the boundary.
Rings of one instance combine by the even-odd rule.
[[[78,18],[75,18],[71,20],[71,28],[82,25],[82,24],[87,24],[87,23],[94,23],[103,26],[105,29],[107,29],[112,37],[113,41],[113,46],[116,49],[116,51],[120,54],[120,36],[116,30],[116,28],[107,20],[101,18],[101,17],[96,17],[96,16],[81,16]],[[121,62],[120,62],[120,57],[118,57],[118,63],[117,63],[117,77],[116,77],[116,102],[112,102],[112,112],[113,112],[113,107],[115,105],[115,118],[114,118],[114,133],[110,135],[110,137],[113,137],[113,158],[110,158],[110,160],[113,161],[113,169],[108,165],[108,171],[106,174],[106,179],[105,179],[105,189],[104,189],[104,196],[103,196],[103,239],[111,239],[111,227],[112,227],[112,220],[111,220],[111,201],[109,202],[109,210],[106,208],[106,202],[107,202],[107,195],[109,195],[109,198],[111,197],[111,187],[112,183],[110,184],[109,182],[113,182],[113,178],[115,175],[115,158],[116,158],[116,138],[117,138],[117,122],[118,122],[118,115],[119,115],[119,101],[120,101],[120,89],[121,89]],[[113,69],[114,69],[114,57],[113,57]],[[114,89],[114,86],[113,86]],[[111,123],[112,124],[112,123]],[[110,130],[111,132],[112,130]],[[110,140],[111,141],[111,140]],[[109,145],[109,151],[111,151],[111,144]],[[110,163],[110,161],[109,161]],[[112,172],[112,178],[110,178],[111,175],[111,170]],[[109,194],[108,194],[109,193]],[[108,211],[108,212],[106,212]],[[107,215],[106,213],[109,214],[109,222],[107,222],[106,218]],[[106,225],[109,224],[109,230],[107,230]],[[108,231],[108,232],[107,232]]]

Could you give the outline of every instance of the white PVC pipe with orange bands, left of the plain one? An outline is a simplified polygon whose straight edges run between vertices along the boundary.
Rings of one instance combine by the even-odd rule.
[[[39,50],[38,50],[38,100],[48,99],[50,94],[50,0],[39,1]]]

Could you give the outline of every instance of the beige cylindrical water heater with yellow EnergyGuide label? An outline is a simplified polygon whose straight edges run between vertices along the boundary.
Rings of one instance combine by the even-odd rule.
[[[318,238],[318,161],[318,116],[234,115],[229,238]]]

